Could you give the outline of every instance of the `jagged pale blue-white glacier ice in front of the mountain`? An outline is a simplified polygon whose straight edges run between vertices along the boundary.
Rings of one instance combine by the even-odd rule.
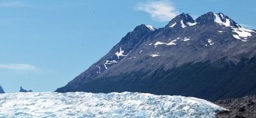
[[[139,92],[0,94],[0,117],[216,117],[207,100]]]

